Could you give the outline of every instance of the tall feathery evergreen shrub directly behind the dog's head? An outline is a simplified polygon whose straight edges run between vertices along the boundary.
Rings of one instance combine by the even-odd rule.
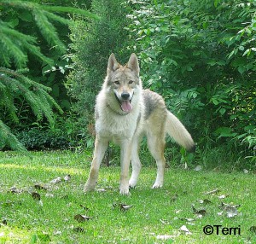
[[[76,19],[71,27],[73,40],[74,70],[67,80],[69,94],[77,102],[74,110],[82,116],[83,126],[91,123],[96,94],[100,90],[106,75],[108,56],[113,52],[120,61],[126,61],[128,55],[127,9],[125,1],[94,0],[91,12],[100,16],[100,20],[90,23]]]

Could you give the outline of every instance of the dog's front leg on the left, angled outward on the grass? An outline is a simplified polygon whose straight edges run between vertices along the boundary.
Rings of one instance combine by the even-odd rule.
[[[108,140],[96,136],[93,160],[90,166],[90,173],[87,182],[84,185],[84,192],[95,189],[99,176],[99,169],[108,148]]]

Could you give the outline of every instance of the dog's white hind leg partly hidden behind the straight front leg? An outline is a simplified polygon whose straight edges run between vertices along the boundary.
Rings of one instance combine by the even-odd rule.
[[[129,186],[131,188],[136,187],[137,179],[138,179],[139,173],[140,173],[141,168],[142,168],[142,164],[141,164],[141,161],[140,161],[139,156],[138,156],[139,142],[140,142],[140,140],[135,140],[135,142],[132,143],[132,149],[131,149],[132,173],[131,173],[131,178],[130,178],[130,181],[129,181]]]

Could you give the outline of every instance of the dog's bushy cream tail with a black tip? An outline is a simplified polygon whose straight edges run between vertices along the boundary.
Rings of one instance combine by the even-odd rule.
[[[185,126],[170,111],[167,111],[166,132],[183,148],[195,152],[195,142]]]

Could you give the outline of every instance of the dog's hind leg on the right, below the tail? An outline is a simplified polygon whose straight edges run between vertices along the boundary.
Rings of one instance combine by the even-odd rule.
[[[166,167],[166,159],[164,157],[165,137],[160,134],[152,133],[148,133],[147,137],[149,151],[154,157],[157,165],[157,176],[152,188],[160,188],[163,186],[164,183],[164,173]]]

